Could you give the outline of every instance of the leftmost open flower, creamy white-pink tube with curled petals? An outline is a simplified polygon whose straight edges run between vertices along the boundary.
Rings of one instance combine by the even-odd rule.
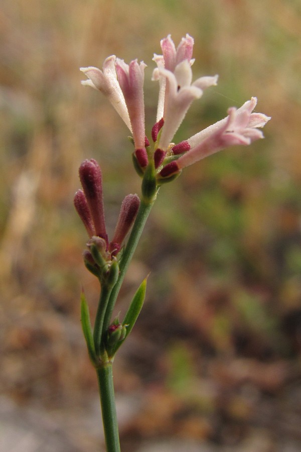
[[[117,80],[115,69],[115,55],[111,55],[104,60],[102,71],[97,67],[81,67],[80,70],[89,80],[83,80],[82,85],[92,86],[101,91],[111,102],[121,119],[131,131],[130,120],[127,107],[120,85]]]

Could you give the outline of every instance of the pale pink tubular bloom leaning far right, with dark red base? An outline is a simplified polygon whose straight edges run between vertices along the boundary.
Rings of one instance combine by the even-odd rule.
[[[226,118],[182,142],[182,149],[184,150],[184,144],[186,144],[188,151],[177,161],[166,165],[160,172],[161,176],[170,176],[229,146],[247,146],[263,138],[262,132],[257,128],[263,127],[270,117],[262,113],[252,113],[256,103],[256,97],[252,97],[238,109],[229,108]]]

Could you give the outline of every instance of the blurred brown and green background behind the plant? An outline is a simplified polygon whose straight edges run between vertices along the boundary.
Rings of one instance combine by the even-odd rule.
[[[140,193],[128,131],[80,66],[111,54],[145,70],[195,38],[194,78],[219,74],[176,141],[258,97],[265,139],[164,186],[116,313],[149,272],[145,306],[114,363],[123,452],[301,449],[301,4],[299,0],[2,0],[0,7],[0,449],[103,449],[80,325],[98,282],[82,262],[78,167],[98,160],[106,220]]]

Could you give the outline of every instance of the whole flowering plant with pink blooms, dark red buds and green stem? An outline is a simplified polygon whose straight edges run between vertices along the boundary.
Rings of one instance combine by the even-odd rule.
[[[270,119],[253,112],[257,99],[252,97],[238,109],[229,108],[227,117],[221,121],[181,143],[173,143],[192,101],[200,98],[204,89],[217,84],[217,75],[203,76],[192,82],[193,45],[193,38],[186,35],[176,48],[169,35],[161,41],[163,55],[154,55],[157,68],[153,71],[153,80],[159,81],[159,100],[157,119],[151,132],[153,146],[145,135],[143,82],[146,65],[137,60],[126,64],[112,55],[105,59],[102,70],[81,68],[87,76],[82,84],[101,91],[128,127],[134,146],[133,164],[142,178],[141,196],[129,194],[121,204],[111,241],[106,233],[101,169],[94,159],[81,164],[79,176],[82,190],[78,190],[74,197],[76,210],[89,235],[84,262],[101,285],[93,330],[83,293],[81,319],[89,356],[98,376],[108,452],[120,450],[112,362],[138,317],[145,297],[146,278],[135,293],[123,320],[118,317],[111,319],[111,316],[159,188],[173,181],[183,168],[215,152],[234,145],[246,146],[263,138],[258,128]],[[125,245],[124,239],[130,230]]]

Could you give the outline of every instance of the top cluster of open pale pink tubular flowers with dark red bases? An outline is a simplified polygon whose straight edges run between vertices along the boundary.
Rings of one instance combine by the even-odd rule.
[[[153,149],[145,136],[143,81],[146,65],[143,61],[133,60],[126,64],[112,55],[105,59],[102,70],[81,68],[88,77],[82,84],[105,94],[129,128],[139,174],[143,175],[146,167],[153,164],[158,185],[210,154],[233,145],[246,146],[263,138],[258,128],[270,119],[252,112],[257,101],[252,97],[238,109],[229,108],[228,116],[223,120],[179,144],[172,143],[192,101],[200,98],[204,89],[217,84],[217,75],[192,81],[193,45],[193,38],[186,35],[176,48],[169,35],[161,41],[162,55],[154,55],[157,68],[152,79],[159,81],[159,101],[151,134],[155,143]]]

